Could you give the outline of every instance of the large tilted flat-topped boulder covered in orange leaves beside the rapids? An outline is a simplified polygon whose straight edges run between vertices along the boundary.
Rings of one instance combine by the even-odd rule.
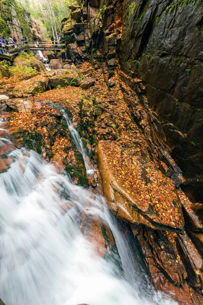
[[[117,218],[133,225],[183,232],[176,187],[150,159],[105,141],[99,142],[96,154],[104,195]]]

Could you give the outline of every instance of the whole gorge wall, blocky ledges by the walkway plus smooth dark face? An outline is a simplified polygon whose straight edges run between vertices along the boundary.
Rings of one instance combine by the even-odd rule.
[[[202,6],[194,0],[87,0],[82,9],[70,7],[72,20],[62,25],[66,58],[102,64],[107,80],[118,60],[132,82],[143,81],[165,144],[197,201],[203,200]]]

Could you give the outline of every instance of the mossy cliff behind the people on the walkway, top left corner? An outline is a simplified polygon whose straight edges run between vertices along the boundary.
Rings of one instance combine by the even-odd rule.
[[[0,35],[15,36],[19,42],[23,37],[31,39],[32,36],[45,40],[46,33],[43,25],[30,17],[15,0],[0,1]]]

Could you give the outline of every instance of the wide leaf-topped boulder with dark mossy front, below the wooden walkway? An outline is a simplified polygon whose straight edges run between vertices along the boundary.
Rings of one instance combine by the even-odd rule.
[[[79,86],[80,85],[80,76],[79,74],[70,69],[58,69],[55,70],[53,73],[49,73],[51,77],[49,78],[51,87],[57,88],[58,86],[60,87],[65,87],[67,85],[71,86]]]

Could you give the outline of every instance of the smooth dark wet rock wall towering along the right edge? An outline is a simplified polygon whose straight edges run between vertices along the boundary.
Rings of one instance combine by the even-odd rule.
[[[202,200],[202,3],[125,1],[122,22],[121,67],[144,81],[185,184]]]

